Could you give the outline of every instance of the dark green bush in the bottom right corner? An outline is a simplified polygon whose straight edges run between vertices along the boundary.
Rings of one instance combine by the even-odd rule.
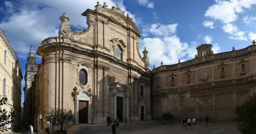
[[[244,134],[256,134],[256,94],[246,100],[244,104],[236,108],[236,114],[239,114],[239,131]]]

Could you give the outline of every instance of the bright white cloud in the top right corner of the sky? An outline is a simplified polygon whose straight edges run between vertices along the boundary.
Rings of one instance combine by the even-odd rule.
[[[244,37],[245,32],[239,31],[239,28],[231,23],[237,21],[238,14],[244,12],[244,9],[251,8],[252,5],[256,4],[256,0],[215,0],[215,2],[216,4],[208,7],[205,16],[220,20],[223,23],[223,31],[230,34],[230,39],[247,40]],[[245,23],[249,23],[253,19],[252,17],[243,18]]]

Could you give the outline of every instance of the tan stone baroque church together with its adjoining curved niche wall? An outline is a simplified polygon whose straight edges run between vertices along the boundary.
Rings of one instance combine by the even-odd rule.
[[[234,121],[235,107],[256,92],[255,42],[218,54],[202,44],[194,59],[150,70],[148,51],[143,57],[139,53],[142,35],[133,19],[107,7],[97,2],[94,10],[81,14],[87,30],[71,31],[70,17],[63,13],[59,36],[38,47],[42,61],[29,72],[37,73],[30,81],[30,101],[25,99],[33,109],[25,118],[35,130],[47,128],[47,114],[56,108],[71,109],[74,124],[106,123],[108,115],[123,122],[146,121],[165,112]]]

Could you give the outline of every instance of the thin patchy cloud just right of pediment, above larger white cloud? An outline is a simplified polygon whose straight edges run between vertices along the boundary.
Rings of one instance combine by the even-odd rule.
[[[146,36],[149,33],[157,36],[168,36],[176,33],[176,27],[178,24],[162,25],[160,23],[151,24],[150,26],[145,26],[142,30],[143,35]]]

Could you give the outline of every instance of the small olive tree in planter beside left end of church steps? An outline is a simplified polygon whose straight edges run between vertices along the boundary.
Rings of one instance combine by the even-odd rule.
[[[71,121],[73,121],[73,115],[72,111],[65,109],[51,109],[51,111],[48,113],[50,122],[53,126],[61,126],[60,130],[63,130],[63,124],[67,124]]]

